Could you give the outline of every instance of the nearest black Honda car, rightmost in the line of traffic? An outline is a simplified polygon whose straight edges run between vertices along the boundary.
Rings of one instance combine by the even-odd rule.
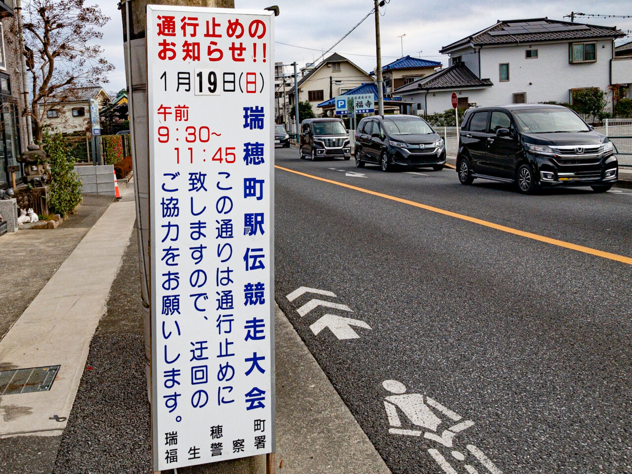
[[[463,118],[456,172],[515,183],[521,193],[542,186],[590,186],[604,192],[616,183],[614,145],[575,112],[545,104],[469,109]]]

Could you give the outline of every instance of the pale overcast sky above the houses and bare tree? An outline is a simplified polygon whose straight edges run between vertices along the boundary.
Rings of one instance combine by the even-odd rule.
[[[90,3],[86,1],[86,4]],[[116,70],[109,75],[110,82],[104,84],[104,88],[108,92],[117,92],[125,88],[121,12],[116,8],[118,2],[114,0],[99,3],[103,12],[112,18],[103,30],[101,44],[106,51],[106,59],[116,66]],[[296,61],[300,66],[318,59],[322,52],[327,51],[367,15],[373,6],[371,0],[235,0],[235,8],[260,9],[270,4],[277,4],[281,10],[281,15],[276,18],[275,40],[294,45],[277,43],[275,61],[283,61],[284,64]],[[401,41],[404,56],[421,56],[446,64],[447,56],[439,55],[442,46],[489,27],[496,20],[547,16],[554,20],[569,21],[563,16],[571,11],[593,15],[632,15],[629,0],[391,0],[384,8],[380,8],[382,64],[402,56]],[[632,18],[577,17],[575,21],[632,30]],[[404,34],[406,36],[400,40],[398,36]],[[632,36],[617,40],[617,44],[629,40],[632,40]],[[365,71],[372,71],[375,68],[373,16],[369,16],[334,51]],[[289,73],[289,68],[286,72]]]

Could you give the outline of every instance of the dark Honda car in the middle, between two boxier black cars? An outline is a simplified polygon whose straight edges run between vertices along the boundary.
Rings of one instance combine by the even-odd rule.
[[[379,164],[382,171],[393,165],[432,167],[446,164],[444,141],[421,117],[413,115],[375,115],[363,118],[356,129],[355,161]]]

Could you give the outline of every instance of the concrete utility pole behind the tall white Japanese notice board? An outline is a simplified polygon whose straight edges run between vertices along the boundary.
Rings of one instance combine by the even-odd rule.
[[[147,360],[147,388],[152,399],[152,320],[150,315],[150,241],[149,241],[149,111],[147,109],[147,4],[234,8],[234,0],[120,0],[123,17],[123,42],[128,87],[130,138],[134,168],[134,191],[138,245],[141,254],[143,329]],[[178,470],[181,474],[240,472],[244,474],[274,473],[274,455],[253,456],[221,463],[192,466]]]

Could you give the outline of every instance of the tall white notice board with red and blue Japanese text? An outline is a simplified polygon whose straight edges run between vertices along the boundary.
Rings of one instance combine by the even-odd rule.
[[[272,15],[147,6],[156,471],[275,449]]]

